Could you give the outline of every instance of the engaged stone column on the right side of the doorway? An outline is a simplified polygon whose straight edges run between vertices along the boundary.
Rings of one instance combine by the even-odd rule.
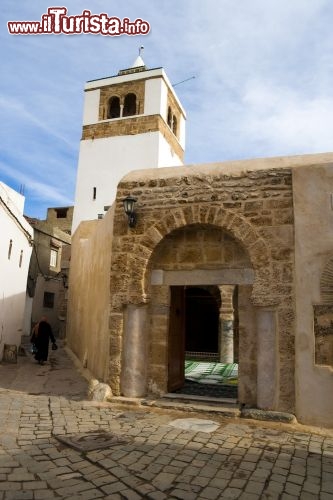
[[[278,394],[276,312],[257,307],[257,406],[274,410]]]

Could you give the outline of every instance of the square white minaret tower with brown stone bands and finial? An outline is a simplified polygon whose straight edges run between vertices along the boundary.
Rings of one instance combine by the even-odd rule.
[[[139,56],[118,75],[86,83],[72,232],[103,216],[132,170],[183,164],[185,111],[163,68]]]

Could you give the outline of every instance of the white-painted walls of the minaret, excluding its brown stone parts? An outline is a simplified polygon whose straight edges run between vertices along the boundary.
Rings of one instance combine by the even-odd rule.
[[[145,80],[143,114],[99,120],[102,87],[142,79]],[[94,80],[87,82],[85,90],[83,126],[149,115],[160,115],[167,123],[168,93],[171,92],[181,110],[178,138],[174,140],[185,149],[185,112],[162,68]],[[99,214],[105,213],[104,207],[114,202],[119,181],[130,171],[182,164],[171,143],[158,130],[81,140],[72,232],[81,221],[97,219]]]

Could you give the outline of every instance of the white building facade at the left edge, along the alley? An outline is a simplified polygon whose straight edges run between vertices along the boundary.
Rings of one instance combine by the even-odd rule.
[[[18,347],[29,333],[24,318],[33,230],[23,217],[24,201],[0,182],[0,360],[6,344]]]

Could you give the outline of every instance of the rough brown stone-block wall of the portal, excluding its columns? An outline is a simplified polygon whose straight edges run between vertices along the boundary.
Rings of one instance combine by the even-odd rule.
[[[127,226],[121,203],[128,194],[138,199],[138,224],[133,230]],[[188,229],[193,225],[196,225],[194,231]],[[184,244],[178,245],[173,253],[173,241],[180,230],[179,241]],[[202,243],[204,234],[208,235],[209,245]],[[201,243],[200,238],[203,238]],[[159,262],[166,269],[221,272],[230,265],[238,269],[251,266],[254,271],[251,307],[256,307],[256,315],[260,315],[260,308],[273,309],[274,324],[278,325],[274,332],[277,362],[272,374],[276,393],[270,406],[293,410],[295,310],[290,168],[275,164],[272,168],[268,160],[266,166],[260,162],[259,165],[240,162],[159,169],[129,174],[119,184],[111,265],[110,335],[114,348],[110,355],[110,384],[114,393],[121,392],[122,323],[128,304],[150,304],[152,327],[145,340],[150,349],[148,366],[153,373],[154,366],[164,363],[162,379],[166,376],[168,315],[165,311],[169,308],[169,295],[167,287],[154,286],[153,290],[151,285],[159,244],[168,248],[168,257],[163,262],[162,252]],[[173,262],[170,255],[174,256]],[[240,261],[237,255],[242,256]],[[163,314],[155,314],[163,308]],[[247,314],[254,316],[247,309]],[[244,320],[242,325],[244,330]],[[254,335],[255,328],[251,328]],[[150,342],[152,332],[154,343]],[[242,356],[245,352],[240,352],[240,358]],[[248,376],[251,379],[252,395],[256,393],[254,365],[252,360],[249,366],[244,363],[241,367],[241,370],[246,367],[244,380]],[[162,379],[159,381],[156,374],[150,375],[150,389],[165,388],[165,382],[161,385]]]

